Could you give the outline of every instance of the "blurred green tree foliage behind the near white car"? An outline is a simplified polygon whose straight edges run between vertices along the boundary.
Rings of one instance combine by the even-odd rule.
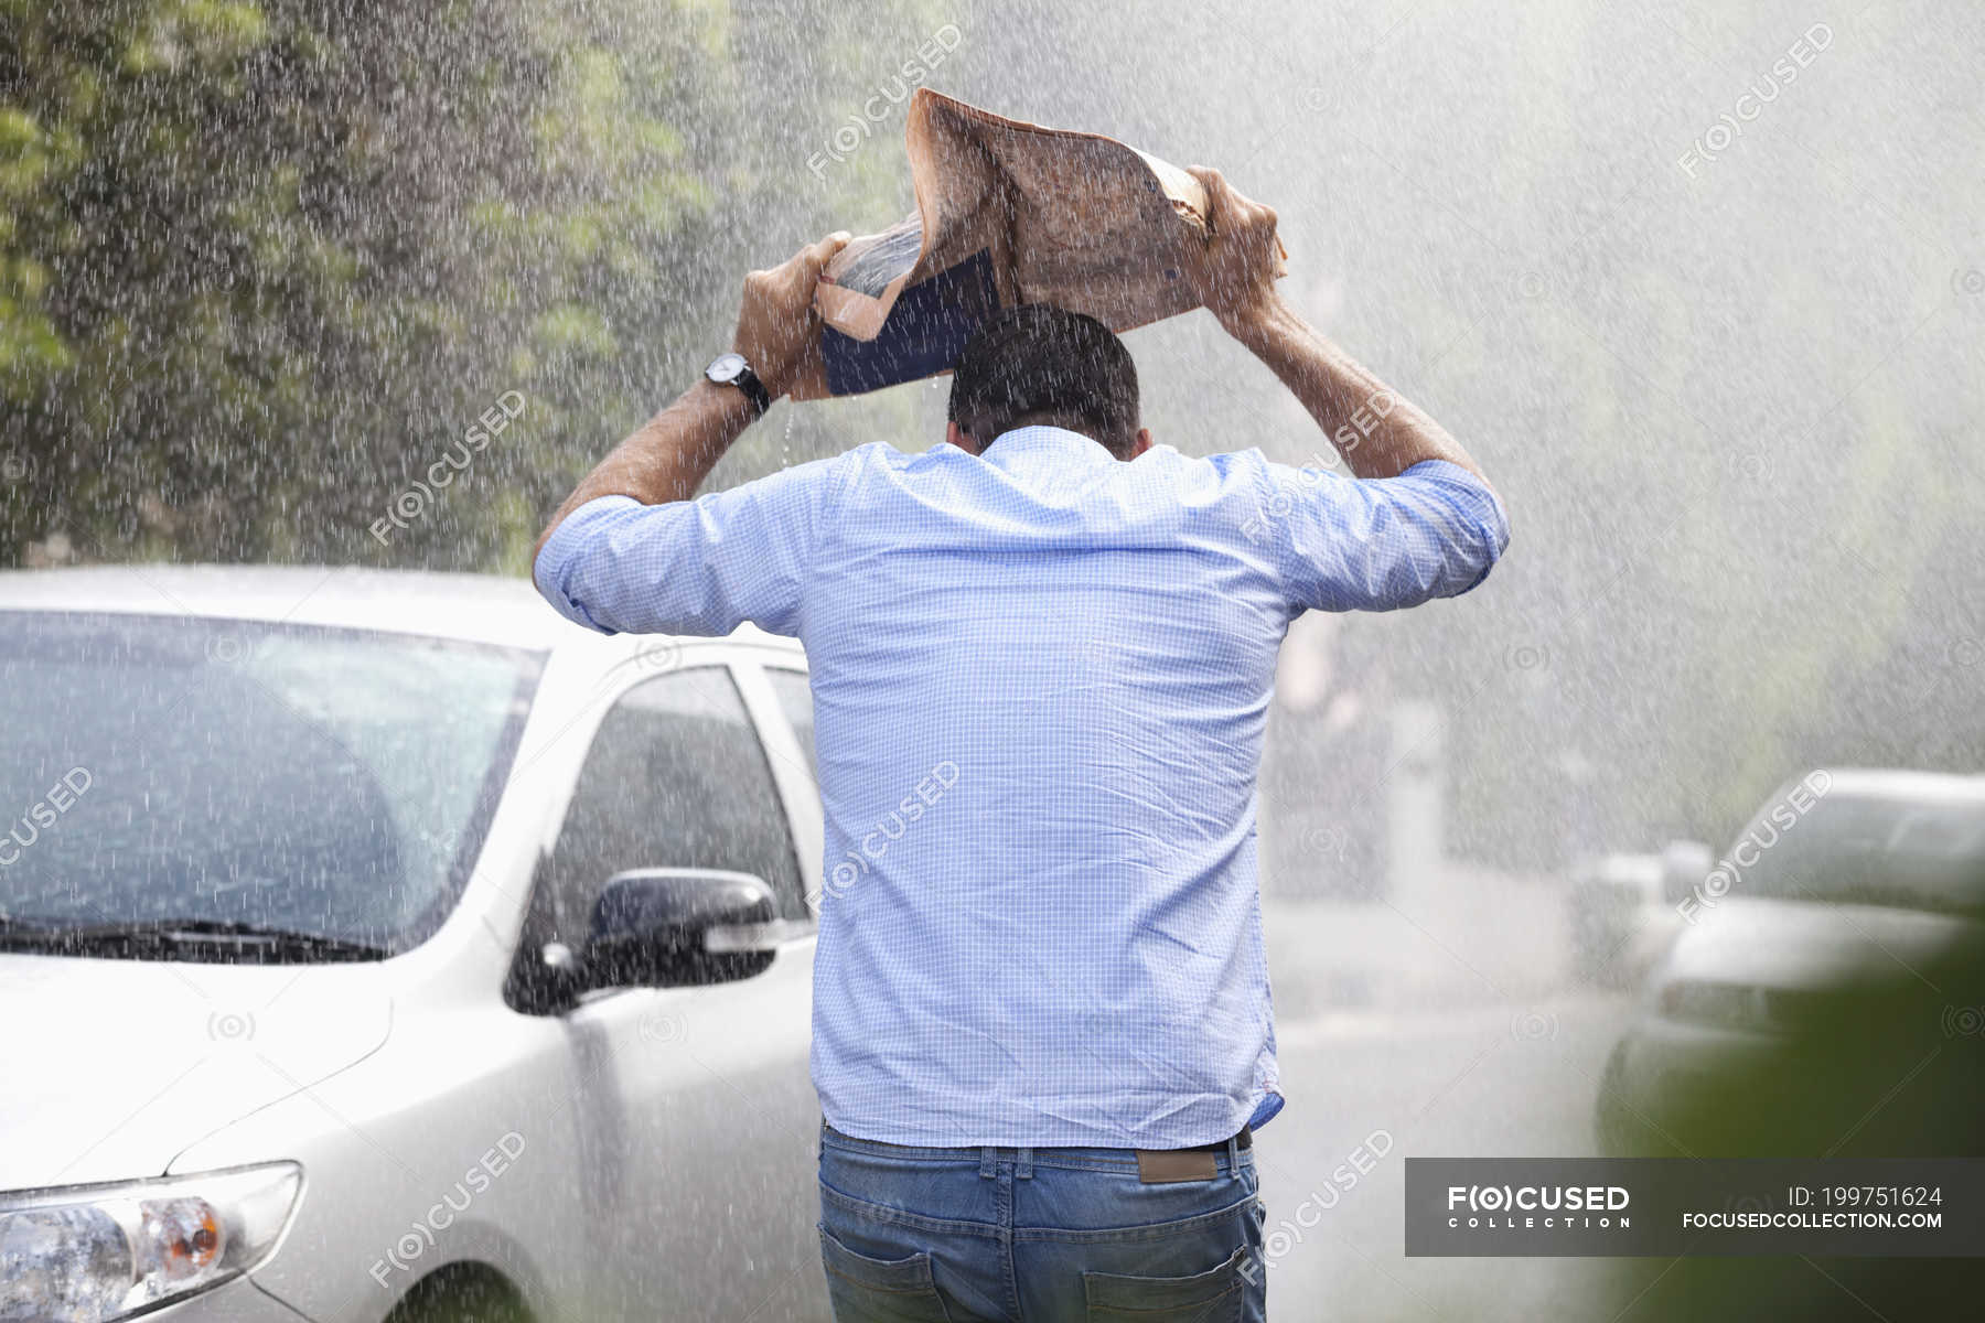
[[[786,8],[0,0],[0,563],[522,569],[798,246],[770,200],[887,169],[762,149],[861,32]]]

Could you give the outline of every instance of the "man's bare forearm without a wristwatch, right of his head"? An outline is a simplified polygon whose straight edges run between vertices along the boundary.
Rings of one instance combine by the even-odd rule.
[[[1447,428],[1324,339],[1280,296],[1223,317],[1223,325],[1302,401],[1356,476],[1395,478],[1423,460],[1447,460],[1483,478]]]

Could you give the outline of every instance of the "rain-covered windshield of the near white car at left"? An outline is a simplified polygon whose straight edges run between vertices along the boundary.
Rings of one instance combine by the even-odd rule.
[[[540,668],[355,629],[6,621],[0,950],[415,946],[461,895]]]

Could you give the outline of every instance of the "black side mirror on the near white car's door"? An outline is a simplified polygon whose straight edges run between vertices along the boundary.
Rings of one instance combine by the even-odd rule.
[[[723,869],[627,869],[594,902],[588,988],[681,988],[762,974],[776,950],[772,887]]]

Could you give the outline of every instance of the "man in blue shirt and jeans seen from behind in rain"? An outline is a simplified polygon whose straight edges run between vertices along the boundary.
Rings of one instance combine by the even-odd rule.
[[[1356,480],[1153,446],[1122,341],[1020,307],[959,359],[945,444],[691,502],[808,367],[832,236],[744,282],[750,371],[719,359],[540,541],[538,589],[582,625],[806,643],[842,1321],[1264,1317],[1253,1129],[1282,1099],[1255,776],[1276,649],[1306,609],[1463,593],[1509,540],[1461,446],[1274,294],[1274,212],[1197,173],[1195,294]]]

